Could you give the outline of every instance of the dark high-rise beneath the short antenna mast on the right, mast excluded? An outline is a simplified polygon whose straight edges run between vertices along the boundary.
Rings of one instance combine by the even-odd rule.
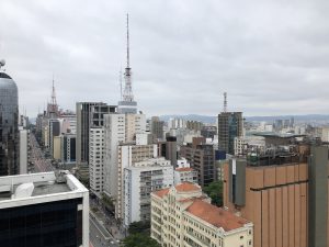
[[[242,136],[243,120],[241,112],[222,112],[218,114],[218,148],[227,154],[235,153],[235,137]]]

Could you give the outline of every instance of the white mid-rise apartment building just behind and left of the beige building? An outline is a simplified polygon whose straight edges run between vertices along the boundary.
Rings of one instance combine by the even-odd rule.
[[[124,227],[150,220],[150,193],[173,184],[170,160],[154,158],[124,169]]]

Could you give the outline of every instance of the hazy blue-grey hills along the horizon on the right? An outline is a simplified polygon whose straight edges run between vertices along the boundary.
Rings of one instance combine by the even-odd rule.
[[[200,121],[203,123],[216,123],[217,116],[209,115],[197,115],[197,114],[188,114],[188,115],[161,115],[160,119],[162,121],[168,121],[169,119],[183,119],[191,121]],[[322,114],[307,114],[307,115],[271,115],[271,116],[245,116],[247,121],[254,122],[273,122],[274,120],[290,120],[294,117],[295,121],[329,121],[329,115]]]

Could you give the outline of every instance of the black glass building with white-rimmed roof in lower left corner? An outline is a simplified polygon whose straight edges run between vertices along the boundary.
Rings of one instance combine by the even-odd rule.
[[[89,247],[89,193],[68,171],[0,177],[1,247]]]

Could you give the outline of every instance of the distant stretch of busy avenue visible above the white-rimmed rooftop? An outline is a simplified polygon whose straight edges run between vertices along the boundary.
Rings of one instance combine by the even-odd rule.
[[[46,172],[53,171],[54,168],[52,166],[50,159],[46,159],[44,153],[42,151],[35,135],[33,133],[30,134],[30,162],[32,164],[32,168],[29,170],[31,172]]]

